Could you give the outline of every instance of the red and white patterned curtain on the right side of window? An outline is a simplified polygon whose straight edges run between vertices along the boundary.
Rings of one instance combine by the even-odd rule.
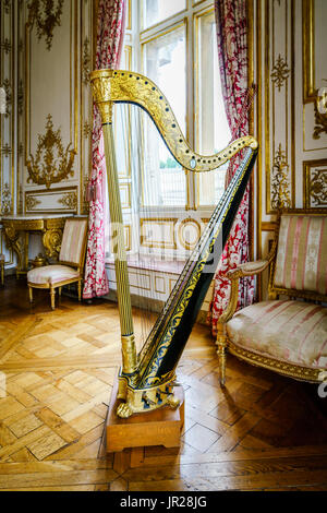
[[[249,134],[249,107],[253,90],[247,83],[247,23],[246,0],[216,0],[215,14],[221,85],[227,119],[232,139]],[[230,182],[242,155],[229,167],[226,186]],[[229,240],[223,250],[215,277],[214,297],[209,312],[213,333],[217,321],[226,309],[230,296],[230,282],[225,273],[249,260],[249,196],[247,187],[240,205]],[[253,302],[252,277],[240,283],[239,308]]]

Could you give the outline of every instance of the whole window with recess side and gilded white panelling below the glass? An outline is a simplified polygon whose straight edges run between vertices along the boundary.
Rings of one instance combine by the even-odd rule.
[[[230,131],[221,94],[214,2],[130,0],[121,68],[153,80],[191,147],[210,155]],[[142,109],[116,105],[114,138],[130,256],[185,260],[225,189],[226,169],[194,174],[169,153]],[[109,224],[107,234],[109,234]],[[106,247],[110,254],[109,241]]]

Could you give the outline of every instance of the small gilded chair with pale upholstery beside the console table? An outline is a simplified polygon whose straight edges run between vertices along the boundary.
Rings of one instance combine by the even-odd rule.
[[[65,220],[58,264],[44,265],[27,273],[29,301],[33,288],[50,290],[51,308],[55,310],[56,288],[77,283],[78,300],[82,299],[83,269],[86,252],[87,217],[72,217]]]

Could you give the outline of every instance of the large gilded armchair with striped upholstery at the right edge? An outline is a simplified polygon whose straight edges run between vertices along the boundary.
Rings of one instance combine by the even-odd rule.
[[[304,211],[279,214],[266,260],[230,271],[231,297],[219,319],[220,383],[226,351],[249,363],[308,382],[327,377],[327,218]],[[237,310],[239,279],[270,266],[268,300]]]

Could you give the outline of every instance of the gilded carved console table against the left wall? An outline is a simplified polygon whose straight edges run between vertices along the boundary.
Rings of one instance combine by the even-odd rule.
[[[58,258],[62,239],[62,229],[69,215],[17,215],[1,219],[7,244],[17,255],[16,276],[28,271],[29,234],[40,231],[48,259]]]

